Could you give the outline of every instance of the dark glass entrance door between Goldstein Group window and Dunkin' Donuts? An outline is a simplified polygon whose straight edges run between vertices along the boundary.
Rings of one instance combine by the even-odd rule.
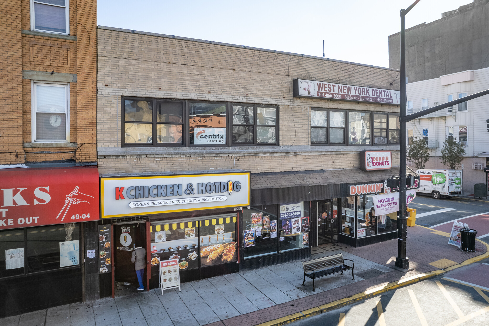
[[[338,242],[338,200],[329,199],[316,202],[317,244]]]

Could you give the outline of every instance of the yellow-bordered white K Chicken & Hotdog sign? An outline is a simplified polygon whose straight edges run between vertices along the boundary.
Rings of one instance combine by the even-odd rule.
[[[249,206],[249,172],[101,178],[102,218]]]

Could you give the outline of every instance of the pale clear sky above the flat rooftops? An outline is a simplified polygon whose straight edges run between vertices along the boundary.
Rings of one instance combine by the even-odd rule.
[[[421,0],[406,28],[472,0]],[[387,36],[414,0],[98,0],[98,24],[388,67]]]

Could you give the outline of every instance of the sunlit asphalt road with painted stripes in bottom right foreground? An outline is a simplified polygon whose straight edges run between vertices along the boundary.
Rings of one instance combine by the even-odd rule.
[[[473,274],[475,267],[489,271],[489,265],[474,263],[460,268],[465,273],[460,273],[461,271],[456,269],[453,273],[448,272],[437,278],[388,291],[377,297],[291,324],[293,326],[487,326],[489,325],[489,288],[473,283],[466,284],[460,280],[464,275],[468,277],[471,272]],[[478,273],[480,274],[480,271]],[[487,285],[484,276],[475,282]]]

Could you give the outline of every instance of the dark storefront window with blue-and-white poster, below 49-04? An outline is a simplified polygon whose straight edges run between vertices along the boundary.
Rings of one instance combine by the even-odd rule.
[[[27,273],[79,264],[77,223],[27,228]]]

